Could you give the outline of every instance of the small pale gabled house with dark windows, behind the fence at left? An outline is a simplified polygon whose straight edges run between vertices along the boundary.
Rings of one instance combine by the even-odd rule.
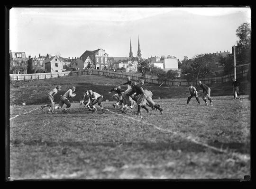
[[[57,56],[52,56],[51,58],[46,57],[46,72],[62,73],[65,71],[65,69],[63,69],[63,64],[63,61],[61,61]]]

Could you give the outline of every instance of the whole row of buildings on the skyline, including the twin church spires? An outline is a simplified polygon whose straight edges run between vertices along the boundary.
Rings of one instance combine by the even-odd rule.
[[[44,72],[64,72],[70,70],[82,69],[120,69],[127,72],[137,72],[137,67],[142,58],[140,44],[138,39],[137,56],[133,56],[132,46],[130,41],[129,57],[109,57],[104,49],[97,49],[94,51],[85,51],[80,57],[70,59],[64,57],[52,56],[35,56],[28,58],[25,52],[11,52],[10,51],[10,73],[25,74],[25,73],[44,73]],[[178,69],[177,59],[151,57],[146,59],[151,66],[156,66],[161,69],[166,69],[165,64],[172,62],[172,68]]]

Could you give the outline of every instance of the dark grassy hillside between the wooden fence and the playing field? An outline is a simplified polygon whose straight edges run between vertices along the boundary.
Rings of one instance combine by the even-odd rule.
[[[82,94],[86,89],[91,89],[99,94],[102,94],[104,100],[112,101],[109,94],[110,89],[116,84],[125,83],[125,79],[112,79],[104,76],[84,75],[84,76],[71,76],[59,77],[52,79],[33,80],[33,81],[11,81],[10,83],[10,105],[26,104],[43,104],[48,102],[46,94],[56,85],[61,85],[62,90],[55,95],[55,102],[59,102],[60,94],[63,95],[71,86],[76,87],[76,96],[71,98],[70,101],[82,100]],[[249,86],[246,81],[241,82],[239,88],[241,94],[249,94]],[[149,89],[153,93],[153,99],[167,99],[167,98],[183,98],[188,96],[188,86],[161,86],[149,85]],[[212,96],[231,95],[231,84],[223,84],[210,86]],[[126,89],[127,86],[122,86]],[[197,87],[199,93],[202,92],[201,88]]]

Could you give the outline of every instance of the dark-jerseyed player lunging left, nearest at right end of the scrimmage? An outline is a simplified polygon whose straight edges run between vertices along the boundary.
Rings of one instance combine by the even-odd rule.
[[[138,99],[137,99],[137,115],[140,115],[140,109],[144,108],[146,110],[147,113],[149,113],[150,111],[148,110],[148,108],[146,107],[146,102],[148,102],[150,104],[150,106],[155,107],[157,110],[160,111],[160,114],[162,114],[163,109],[160,108],[160,106],[156,105],[155,102],[152,100],[152,92],[148,91],[147,89],[144,89],[143,86],[139,86],[136,85],[136,82],[132,82],[131,83],[131,87],[132,90],[126,94],[128,96],[136,93],[137,95],[139,95]]]

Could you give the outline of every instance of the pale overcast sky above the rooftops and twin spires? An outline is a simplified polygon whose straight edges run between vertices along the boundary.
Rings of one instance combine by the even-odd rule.
[[[130,39],[142,57],[232,52],[236,29],[251,22],[250,8],[12,8],[9,45],[26,56],[79,57],[102,48],[129,56]]]

